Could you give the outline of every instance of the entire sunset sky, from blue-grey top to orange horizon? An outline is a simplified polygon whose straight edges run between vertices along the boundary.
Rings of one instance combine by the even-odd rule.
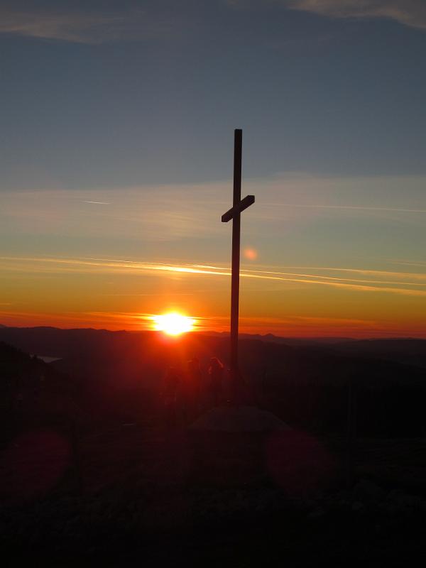
[[[0,1],[0,323],[426,337],[422,0]]]

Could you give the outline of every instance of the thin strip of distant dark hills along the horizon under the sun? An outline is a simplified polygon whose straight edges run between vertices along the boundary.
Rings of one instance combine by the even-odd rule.
[[[111,332],[107,329],[59,329],[56,327],[1,326],[0,341],[39,356],[62,359],[55,366],[82,366],[82,361],[144,361],[157,367],[174,358],[177,346],[190,359],[198,356],[207,361],[211,356],[228,359],[229,334],[192,333],[178,339],[158,332]],[[342,356],[347,359],[389,361],[426,369],[425,339],[348,339],[338,337],[285,338],[273,334],[240,336],[241,366],[253,361],[256,354],[256,372],[273,367],[274,372],[288,367],[290,361],[329,359]],[[158,354],[159,361],[153,361]],[[287,365],[283,361],[287,361]],[[249,371],[253,371],[252,364]],[[77,368],[75,369],[77,371]],[[395,370],[395,369],[394,369]],[[81,371],[81,369],[79,369]],[[262,372],[263,372],[262,371]],[[331,370],[332,374],[334,371]]]

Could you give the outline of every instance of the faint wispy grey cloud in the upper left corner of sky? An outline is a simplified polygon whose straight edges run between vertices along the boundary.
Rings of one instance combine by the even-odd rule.
[[[13,11],[0,9],[0,33],[71,43],[104,43],[119,39],[168,35],[175,21],[143,11],[116,13]]]

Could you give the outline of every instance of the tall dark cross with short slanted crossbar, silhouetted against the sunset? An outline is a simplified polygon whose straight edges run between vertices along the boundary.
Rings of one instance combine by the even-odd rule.
[[[239,383],[238,366],[238,321],[239,321],[239,266],[240,266],[240,234],[241,213],[254,203],[254,195],[247,195],[241,200],[241,153],[243,131],[234,131],[234,199],[232,207],[222,215],[222,223],[232,219],[232,275],[231,275],[231,379],[233,383],[233,397],[236,402],[236,393]]]

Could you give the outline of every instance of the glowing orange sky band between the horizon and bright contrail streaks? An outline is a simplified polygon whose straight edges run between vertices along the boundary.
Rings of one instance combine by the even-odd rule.
[[[226,266],[111,258],[1,257],[0,322],[155,329],[178,312],[195,332],[229,330]],[[425,337],[426,275],[243,264],[240,329],[291,337]],[[9,301],[8,301],[9,300]],[[422,302],[419,304],[419,301]]]

